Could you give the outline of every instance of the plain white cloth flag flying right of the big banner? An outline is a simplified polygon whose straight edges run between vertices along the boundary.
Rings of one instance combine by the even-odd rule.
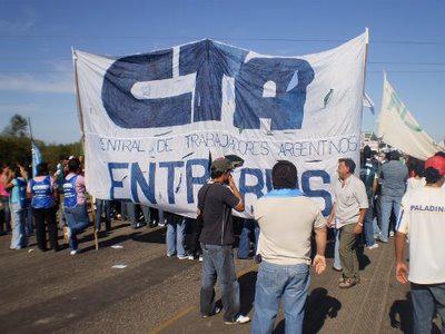
[[[384,75],[378,137],[403,153],[426,160],[444,148],[419,126]]]

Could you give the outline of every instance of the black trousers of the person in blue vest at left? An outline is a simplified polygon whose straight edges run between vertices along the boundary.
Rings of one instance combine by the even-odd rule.
[[[34,216],[37,246],[39,249],[47,249],[47,227],[50,248],[58,249],[56,208],[32,208],[32,214]]]

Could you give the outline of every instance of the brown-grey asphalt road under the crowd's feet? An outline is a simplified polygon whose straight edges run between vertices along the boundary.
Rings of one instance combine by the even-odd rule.
[[[10,250],[10,236],[1,236],[0,333],[249,333],[249,324],[224,325],[221,315],[199,317],[200,263],[167,257],[164,239],[165,228],[134,230],[115,222],[99,250],[88,229],[82,253],[70,256],[68,249],[41,253],[33,238],[31,247]],[[362,283],[347,291],[337,287],[330,266],[313,274],[305,333],[411,333],[393,245],[362,259]],[[253,316],[256,265],[237,259],[236,267],[241,311]],[[284,332],[281,314],[275,332]]]

